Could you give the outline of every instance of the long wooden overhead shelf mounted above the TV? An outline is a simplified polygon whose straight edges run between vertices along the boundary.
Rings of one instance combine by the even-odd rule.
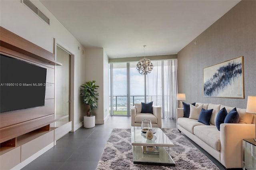
[[[58,61],[54,61],[54,54],[46,51],[42,47],[0,27],[0,44],[2,47],[12,49],[24,55],[28,55],[40,61],[44,61],[51,65],[62,65]]]

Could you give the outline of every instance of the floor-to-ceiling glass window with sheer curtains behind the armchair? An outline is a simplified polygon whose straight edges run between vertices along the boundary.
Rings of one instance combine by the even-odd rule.
[[[162,107],[163,118],[175,118],[177,60],[152,61],[148,75],[140,75],[137,62],[110,64],[110,115],[129,116],[134,103]]]

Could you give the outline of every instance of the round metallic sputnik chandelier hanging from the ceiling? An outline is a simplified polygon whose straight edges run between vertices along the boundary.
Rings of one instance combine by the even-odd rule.
[[[137,63],[136,69],[139,71],[141,75],[147,75],[153,70],[153,64],[151,63],[150,59],[146,58],[145,55],[145,47],[146,45],[143,45],[144,48],[144,58],[140,59],[140,61]]]

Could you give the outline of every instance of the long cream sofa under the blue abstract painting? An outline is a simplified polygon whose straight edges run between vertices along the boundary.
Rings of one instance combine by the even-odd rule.
[[[196,107],[203,105],[204,109],[213,109],[210,125],[198,122],[196,119],[183,117],[184,109],[177,109],[177,128],[191,140],[196,142],[226,168],[242,168],[242,139],[254,138],[254,115],[246,113],[246,109],[237,109],[238,123],[222,123],[220,131],[215,121],[218,112],[223,107],[229,113],[234,107],[211,103],[196,103]],[[191,110],[190,110],[191,113]]]

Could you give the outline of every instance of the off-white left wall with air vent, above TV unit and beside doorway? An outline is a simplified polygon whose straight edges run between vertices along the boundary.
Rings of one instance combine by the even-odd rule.
[[[56,43],[74,54],[74,79],[71,82],[71,86],[74,87],[72,91],[74,96],[71,97],[74,99],[71,101],[74,102],[74,107],[72,107],[71,117],[72,130],[76,130],[83,125],[84,116],[80,98],[80,85],[84,83],[87,75],[84,69],[85,55],[82,54],[84,48],[40,1],[33,0],[32,3],[50,18],[50,26],[20,3],[20,0],[0,0],[0,25],[51,53],[54,53],[55,38]],[[78,46],[81,47],[80,50]]]

